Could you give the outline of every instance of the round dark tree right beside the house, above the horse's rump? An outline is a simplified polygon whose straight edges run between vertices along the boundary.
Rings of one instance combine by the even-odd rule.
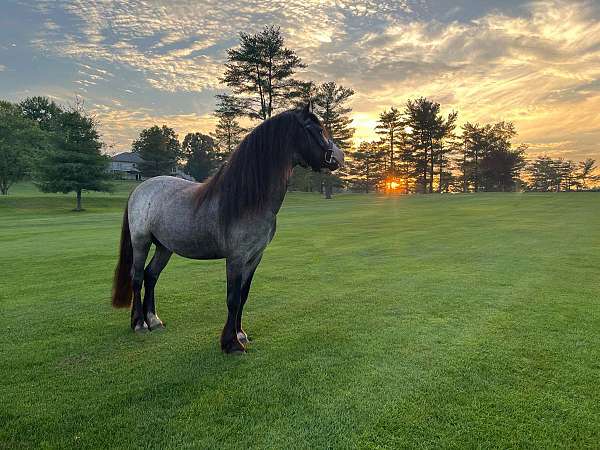
[[[144,177],[168,175],[181,157],[181,146],[172,128],[166,125],[146,128],[133,141],[132,151],[144,160],[138,168]]]

